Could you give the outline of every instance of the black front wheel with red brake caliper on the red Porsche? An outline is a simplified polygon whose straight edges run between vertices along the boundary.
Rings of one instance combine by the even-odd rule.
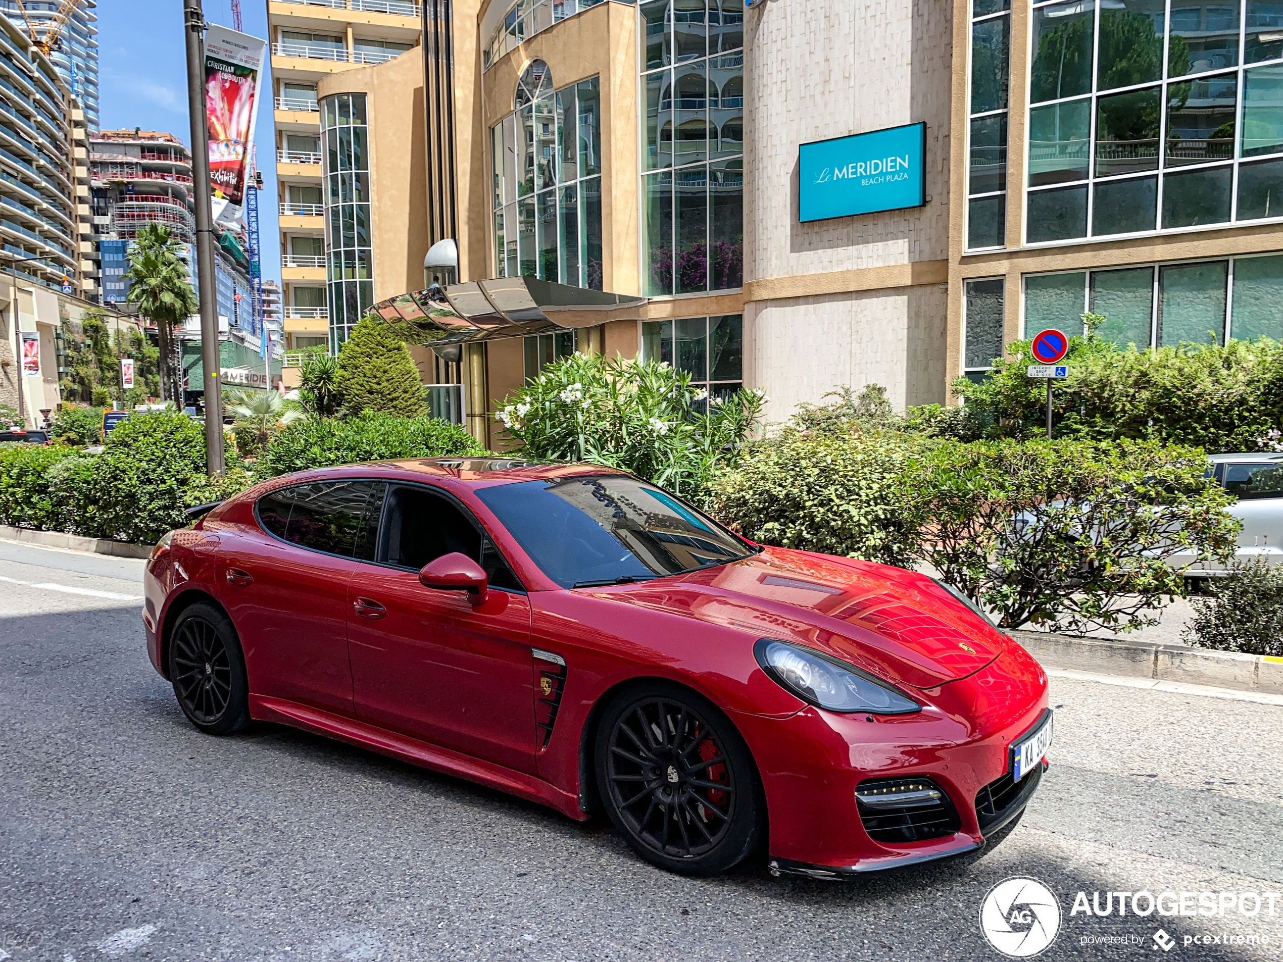
[[[598,729],[597,777],[615,827],[661,868],[716,875],[761,839],[765,806],[748,747],[686,689],[656,684],[617,698]]]

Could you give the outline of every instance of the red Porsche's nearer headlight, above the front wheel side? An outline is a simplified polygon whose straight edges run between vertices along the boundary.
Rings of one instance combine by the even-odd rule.
[[[803,702],[830,712],[908,714],[922,708],[853,664],[810,648],[763,637],[753,646],[753,654],[762,670],[781,688]]]

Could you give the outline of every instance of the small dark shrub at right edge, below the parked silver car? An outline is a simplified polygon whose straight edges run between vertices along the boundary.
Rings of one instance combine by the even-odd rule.
[[[1209,598],[1192,599],[1185,644],[1283,657],[1283,568],[1256,561],[1211,581]]]

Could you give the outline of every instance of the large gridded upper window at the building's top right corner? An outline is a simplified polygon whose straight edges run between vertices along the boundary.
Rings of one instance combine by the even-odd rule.
[[[1245,9],[1034,6],[1026,242],[1283,214],[1283,15]]]

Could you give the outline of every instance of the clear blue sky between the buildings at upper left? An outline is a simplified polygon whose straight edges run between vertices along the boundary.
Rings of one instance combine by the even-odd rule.
[[[210,23],[232,26],[228,0],[204,0],[204,9]],[[241,0],[241,15],[246,33],[267,36],[263,0]],[[99,123],[106,130],[167,131],[191,146],[182,0],[98,0],[98,30]],[[271,91],[268,77],[255,131],[266,187],[259,198],[259,240],[263,277],[281,280]]]

